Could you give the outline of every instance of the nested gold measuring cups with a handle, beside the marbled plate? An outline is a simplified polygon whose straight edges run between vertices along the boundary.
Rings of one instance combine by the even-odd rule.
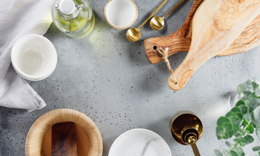
[[[173,115],[170,121],[173,139],[182,145],[191,145],[195,156],[200,156],[196,141],[202,135],[203,125],[198,116],[188,110]]]

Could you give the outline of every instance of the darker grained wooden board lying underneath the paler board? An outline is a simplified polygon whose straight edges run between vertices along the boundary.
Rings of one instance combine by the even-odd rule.
[[[194,0],[189,16],[184,24],[174,33],[168,36],[148,38],[144,41],[147,59],[152,64],[162,61],[163,56],[159,55],[154,48],[169,47],[168,56],[182,51],[189,51],[192,37],[193,16],[204,0]],[[260,45],[260,15],[258,15],[236,38],[236,40],[222,53],[217,56],[227,56],[242,53]]]

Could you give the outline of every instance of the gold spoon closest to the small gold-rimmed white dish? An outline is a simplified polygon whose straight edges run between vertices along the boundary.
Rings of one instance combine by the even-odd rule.
[[[140,28],[142,28],[142,26],[145,25],[145,23],[151,18],[153,17],[153,15],[162,7],[162,5],[164,5],[164,3],[167,0],[164,0],[153,12],[152,14],[144,21],[144,23],[139,27],[139,28],[130,28],[127,33],[126,33],[126,37],[128,38],[129,41],[135,42],[137,40],[139,40],[139,38],[141,37],[141,32],[140,32]]]

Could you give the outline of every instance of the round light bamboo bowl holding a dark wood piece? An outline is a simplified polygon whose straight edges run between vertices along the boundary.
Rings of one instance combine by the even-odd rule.
[[[77,155],[102,156],[102,138],[95,123],[72,109],[52,110],[34,122],[25,141],[26,156],[51,156],[51,127],[69,121],[76,123]]]

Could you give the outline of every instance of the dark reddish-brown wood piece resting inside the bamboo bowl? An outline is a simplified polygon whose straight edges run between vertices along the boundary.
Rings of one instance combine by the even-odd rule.
[[[51,127],[51,156],[77,156],[74,122],[56,123]]]

